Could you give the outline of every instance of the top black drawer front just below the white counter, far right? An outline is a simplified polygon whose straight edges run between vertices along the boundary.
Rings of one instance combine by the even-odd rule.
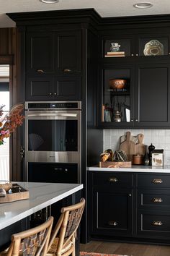
[[[168,188],[170,184],[170,175],[163,174],[138,174],[138,187],[149,188]]]

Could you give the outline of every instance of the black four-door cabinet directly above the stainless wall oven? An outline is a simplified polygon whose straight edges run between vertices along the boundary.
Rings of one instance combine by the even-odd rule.
[[[28,32],[26,53],[26,101],[81,100],[79,30]]]

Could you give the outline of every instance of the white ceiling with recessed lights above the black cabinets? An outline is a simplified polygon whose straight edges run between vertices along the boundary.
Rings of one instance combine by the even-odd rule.
[[[133,4],[149,2],[153,7],[135,9]],[[15,27],[8,12],[42,12],[61,9],[94,8],[102,17],[170,14],[169,0],[59,0],[57,4],[43,4],[40,0],[0,0],[0,27]]]

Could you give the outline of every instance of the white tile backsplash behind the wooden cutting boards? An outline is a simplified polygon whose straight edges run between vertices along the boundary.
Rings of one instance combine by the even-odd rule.
[[[118,150],[120,136],[128,131],[133,136],[143,133],[145,145],[152,143],[156,149],[164,149],[164,165],[170,165],[170,129],[104,129],[103,151],[108,148]]]

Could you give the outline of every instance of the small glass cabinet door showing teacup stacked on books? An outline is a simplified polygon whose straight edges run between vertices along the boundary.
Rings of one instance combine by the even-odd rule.
[[[131,56],[133,48],[133,40],[131,38],[110,38],[103,40],[104,57],[126,57]]]

